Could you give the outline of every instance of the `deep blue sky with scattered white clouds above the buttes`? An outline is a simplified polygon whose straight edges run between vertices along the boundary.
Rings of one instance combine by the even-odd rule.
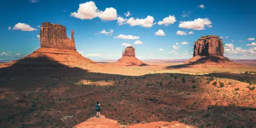
[[[45,21],[67,27],[69,38],[74,30],[77,51],[93,60],[119,59],[123,43],[135,47],[138,59],[189,59],[193,42],[212,34],[222,37],[230,59],[256,59],[255,5],[253,0],[1,1],[0,60],[38,49]],[[142,44],[134,44],[137,40]]]

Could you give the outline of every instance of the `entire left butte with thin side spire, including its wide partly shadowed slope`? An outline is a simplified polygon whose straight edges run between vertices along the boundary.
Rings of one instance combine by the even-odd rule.
[[[83,57],[76,51],[73,30],[71,37],[71,40],[67,37],[66,27],[61,24],[44,22],[40,31],[41,48],[6,66],[15,64],[18,68],[93,67],[94,61]]]

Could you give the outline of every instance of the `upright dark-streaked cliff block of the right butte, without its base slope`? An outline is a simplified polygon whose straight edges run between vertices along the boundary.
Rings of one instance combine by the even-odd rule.
[[[218,36],[201,36],[194,43],[193,56],[224,56],[223,42]]]

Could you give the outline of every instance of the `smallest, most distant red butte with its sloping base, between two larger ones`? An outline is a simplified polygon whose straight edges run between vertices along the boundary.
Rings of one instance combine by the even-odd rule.
[[[117,60],[114,65],[118,66],[145,66],[147,64],[135,57],[135,48],[133,46],[128,46],[123,51],[121,59]]]

